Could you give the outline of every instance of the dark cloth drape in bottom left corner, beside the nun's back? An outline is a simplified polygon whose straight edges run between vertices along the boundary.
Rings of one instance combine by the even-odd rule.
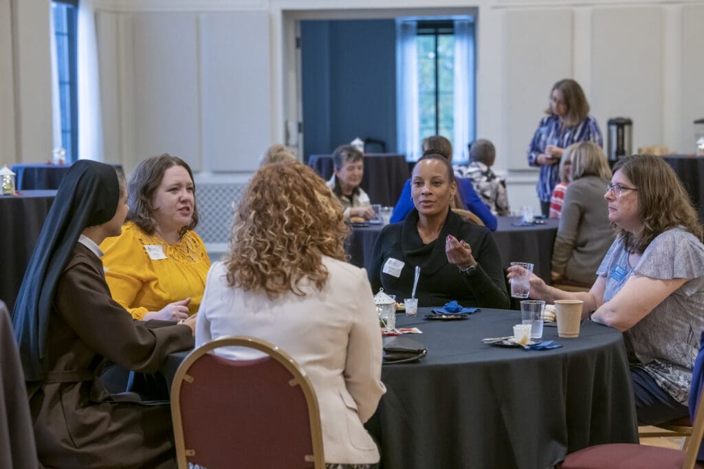
[[[0,467],[36,468],[37,449],[20,353],[0,301]]]

